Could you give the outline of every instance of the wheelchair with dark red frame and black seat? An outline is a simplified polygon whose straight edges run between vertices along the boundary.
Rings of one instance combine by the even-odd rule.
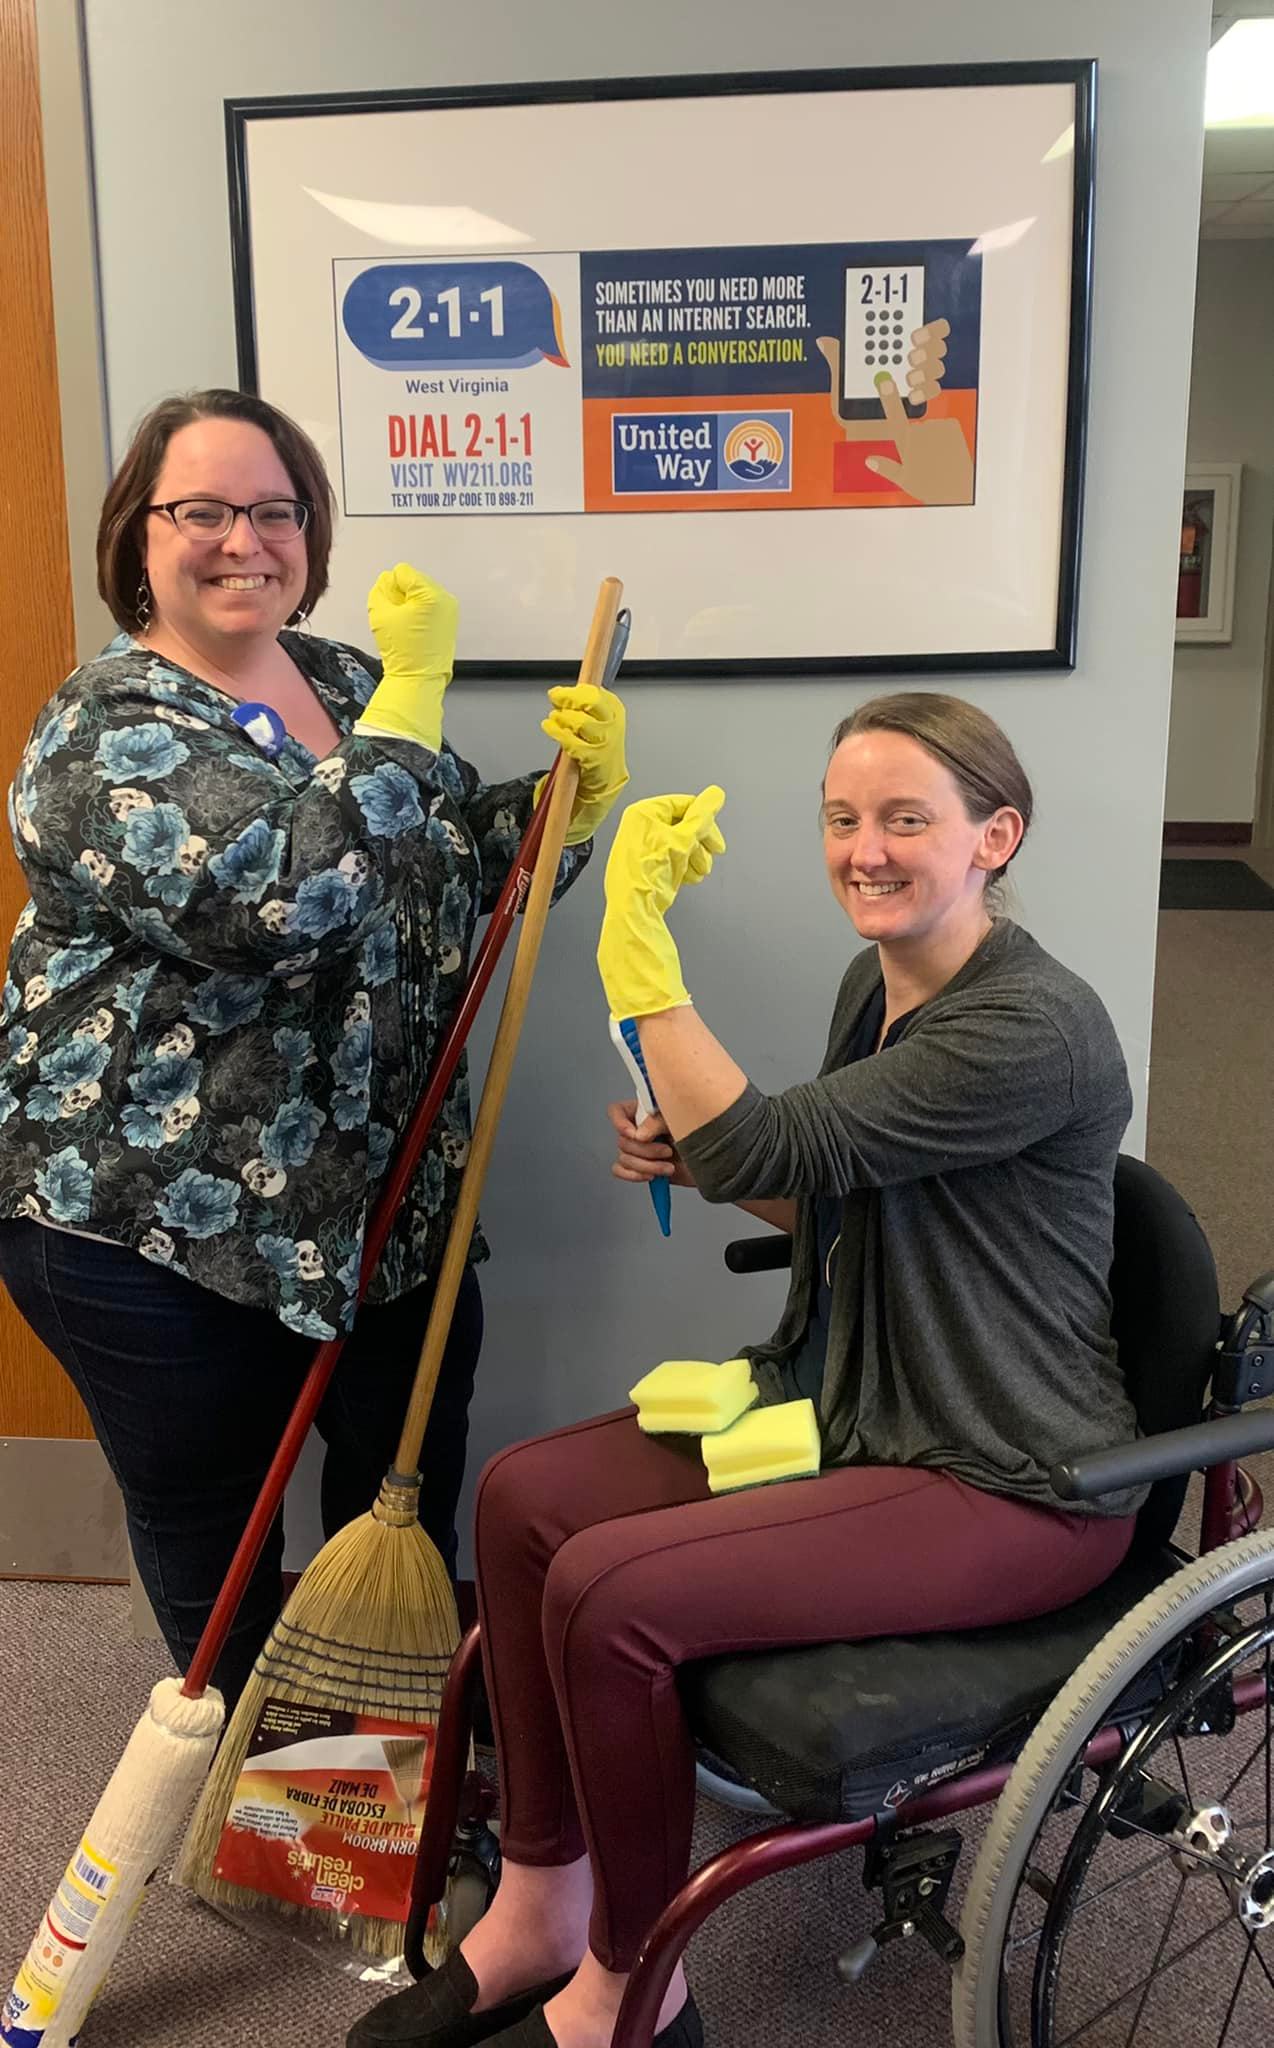
[[[744,1239],[725,1262],[776,1270],[791,1239]],[[1120,1157],[1110,1290],[1141,1434],[1051,1477],[1063,1499],[1149,1483],[1129,1556],[1073,1606],[1012,1626],[686,1665],[700,1790],[770,1825],[664,1909],[614,2048],[649,2048],[672,1970],[717,1907],[850,1847],[881,1921],[838,1960],[842,1980],[893,1942],[932,1950],[957,2048],[1137,2048],[1159,2038],[1165,2001],[1178,2019],[1186,2001],[1198,2048],[1274,2038],[1274,1530],[1251,1534],[1262,1497],[1239,1464],[1274,1448],[1274,1411],[1243,1413],[1274,1395],[1274,1272],[1223,1319],[1194,1214]],[[1174,1532],[1196,1470],[1192,1556]],[[498,1880],[492,1794],[469,1769],[479,1659],[475,1626],[438,1722],[406,1933],[416,1976],[449,1882],[475,1913]],[[950,1821],[989,1802],[957,1927]],[[1094,1915],[1100,1970],[1084,1956]]]

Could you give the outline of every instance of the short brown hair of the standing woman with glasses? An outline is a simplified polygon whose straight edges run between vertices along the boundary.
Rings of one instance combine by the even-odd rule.
[[[102,502],[98,592],[113,618],[125,633],[137,631],[137,592],[145,573],[145,547],[141,543],[145,508],[164,467],[168,442],[178,428],[190,426],[195,420],[246,420],[248,426],[260,426],[287,469],[297,498],[309,504],[305,592],[293,621],[309,614],[328,588],[336,514],[336,498],[322,455],[309,434],[285,412],[266,406],[264,397],[252,397],[248,391],[186,391],[180,397],[162,399],[147,412]]]

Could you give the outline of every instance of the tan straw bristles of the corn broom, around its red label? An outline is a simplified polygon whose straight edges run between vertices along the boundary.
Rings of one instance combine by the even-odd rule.
[[[215,1858],[266,1700],[436,1722],[461,1628],[447,1567],[416,1520],[416,1487],[385,1481],[371,1513],[338,1530],[301,1573],[240,1696],[176,1868],[178,1884],[211,1905],[264,1907],[381,1958],[401,1952],[401,1921],[363,1913],[346,1921],[246,1890],[215,1876]]]

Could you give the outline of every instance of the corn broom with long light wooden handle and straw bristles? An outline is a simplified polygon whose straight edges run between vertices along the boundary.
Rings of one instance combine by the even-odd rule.
[[[598,592],[580,682],[602,682],[614,645],[623,645],[621,596],[623,586],[606,578]],[[354,1948],[381,1958],[401,1950],[401,1917],[352,1913],[344,1921],[336,1917],[332,1905],[281,1901],[236,1884],[219,1874],[219,1845],[236,1804],[240,1772],[268,1700],[418,1726],[438,1720],[442,1686],[459,1642],[459,1618],[447,1567],[418,1522],[422,1483],[418,1458],[530,995],[576,784],[576,764],[561,760],[547,799],[541,856],[526,897],[522,934],[393,1466],[371,1511],[338,1530],[297,1581],[240,1698],[176,1870],[178,1882],[188,1884],[211,1905],[266,1907],[285,1919],[317,1923],[320,1931],[344,1935]]]

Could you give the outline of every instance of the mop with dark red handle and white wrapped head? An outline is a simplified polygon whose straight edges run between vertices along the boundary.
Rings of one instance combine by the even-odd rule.
[[[559,770],[553,770],[557,778]],[[516,860],[473,958],[465,993],[434,1061],[426,1092],[399,1145],[393,1169],[367,1227],[358,1294],[385,1247],[397,1204],[420,1163],[442,1098],[459,1065],[473,1018],[492,981],[516,913],[526,901],[537,852],[549,821],[549,791],[530,815]],[[557,858],[553,860],[553,870]],[[252,1518],[233,1554],[217,1604],[184,1679],[164,1677],[133,1729],[76,1847],[61,1884],[35,1931],[16,1980],[0,2007],[6,2048],[68,2048],[96,1997],[141,1905],[145,1886],[168,1853],[207,1778],[225,1722],[213,1667],[240,1610],[262,1544],[283,1503],[301,1446],[342,1352],[340,1337],[322,1343],[305,1374],[287,1432],[274,1454]]]

